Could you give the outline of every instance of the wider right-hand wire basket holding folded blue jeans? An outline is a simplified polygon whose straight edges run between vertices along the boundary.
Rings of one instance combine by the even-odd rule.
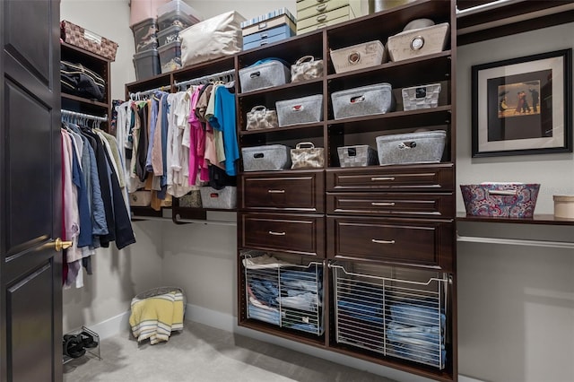
[[[446,275],[427,274],[417,280],[385,274],[373,265],[329,267],[334,277],[337,343],[445,368]]]

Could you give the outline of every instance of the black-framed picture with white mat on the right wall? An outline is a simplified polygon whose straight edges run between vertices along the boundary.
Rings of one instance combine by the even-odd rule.
[[[473,157],[572,152],[572,49],[472,67]]]

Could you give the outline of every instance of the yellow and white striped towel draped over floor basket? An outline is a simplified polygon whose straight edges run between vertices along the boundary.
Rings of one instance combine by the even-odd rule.
[[[184,298],[180,291],[132,300],[129,324],[138,342],[150,339],[160,343],[170,339],[171,332],[183,330]]]

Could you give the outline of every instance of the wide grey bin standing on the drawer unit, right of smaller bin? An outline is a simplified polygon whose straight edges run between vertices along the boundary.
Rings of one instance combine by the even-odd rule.
[[[446,137],[447,132],[444,130],[378,136],[378,163],[439,162],[445,150]]]

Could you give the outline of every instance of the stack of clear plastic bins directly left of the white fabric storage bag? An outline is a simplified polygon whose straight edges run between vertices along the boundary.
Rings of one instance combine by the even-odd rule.
[[[161,73],[169,73],[181,67],[181,42],[179,32],[201,21],[195,9],[183,2],[173,0],[158,8],[158,40]]]

